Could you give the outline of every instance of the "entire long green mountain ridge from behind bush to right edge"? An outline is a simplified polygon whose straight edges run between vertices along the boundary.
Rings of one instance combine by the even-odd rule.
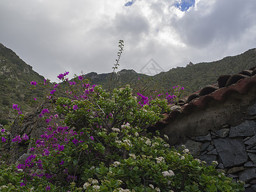
[[[163,90],[170,90],[173,86],[184,86],[186,93],[193,93],[204,86],[217,83],[219,76],[223,74],[236,74],[242,70],[256,65],[256,49],[250,49],[237,56],[227,56],[219,61],[209,63],[198,63],[186,67],[172,68],[168,72],[161,72],[156,76],[138,74],[134,70],[121,70],[114,75],[115,86],[122,86],[127,83],[138,83],[138,77],[149,81],[147,86],[161,86]],[[85,77],[92,79],[93,84],[102,84],[108,88],[109,74],[97,74],[91,72]],[[113,83],[112,83],[113,84]]]

